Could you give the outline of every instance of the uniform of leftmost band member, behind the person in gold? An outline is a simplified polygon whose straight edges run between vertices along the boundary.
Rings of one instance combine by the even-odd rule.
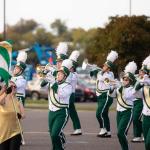
[[[16,97],[18,98],[20,102],[22,102],[24,106],[25,105],[25,89],[26,89],[27,81],[22,75],[14,76],[11,78],[11,80],[17,86]]]

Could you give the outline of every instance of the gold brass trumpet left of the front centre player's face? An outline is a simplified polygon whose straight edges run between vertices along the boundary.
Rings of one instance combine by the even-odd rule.
[[[51,72],[53,74],[56,69],[57,68],[55,65],[51,65],[50,63],[48,63],[46,66],[38,65],[36,67],[36,72],[40,77],[45,77],[48,72]]]

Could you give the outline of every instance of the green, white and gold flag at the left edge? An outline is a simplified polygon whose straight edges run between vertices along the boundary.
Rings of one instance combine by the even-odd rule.
[[[7,41],[0,42],[0,77],[8,85],[10,79],[12,45]]]

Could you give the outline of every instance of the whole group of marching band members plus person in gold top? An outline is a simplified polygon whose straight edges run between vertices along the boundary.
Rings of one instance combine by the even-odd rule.
[[[3,46],[2,44],[1,42],[0,46]],[[12,46],[7,41],[5,44]],[[78,80],[76,68],[80,53],[74,50],[68,56],[67,51],[67,44],[60,42],[56,48],[57,64],[46,65],[41,82],[41,87],[48,86],[48,127],[53,150],[65,149],[66,138],[63,129],[69,116],[74,129],[71,135],[82,135],[80,119],[74,105]],[[117,58],[118,53],[111,51],[102,68],[93,68],[90,71],[90,76],[96,77],[97,80],[96,118],[100,127],[97,137],[111,138],[109,108],[113,100],[117,100],[117,137],[121,149],[129,150],[127,132],[133,121],[132,142],[145,142],[145,149],[150,150],[150,56],[143,61],[136,75],[136,63],[129,62],[120,80],[116,80],[113,73]],[[26,52],[20,52],[8,84],[1,77],[0,150],[19,150],[21,143],[24,144],[20,122],[25,118],[24,99],[27,82],[23,72],[26,59]]]

